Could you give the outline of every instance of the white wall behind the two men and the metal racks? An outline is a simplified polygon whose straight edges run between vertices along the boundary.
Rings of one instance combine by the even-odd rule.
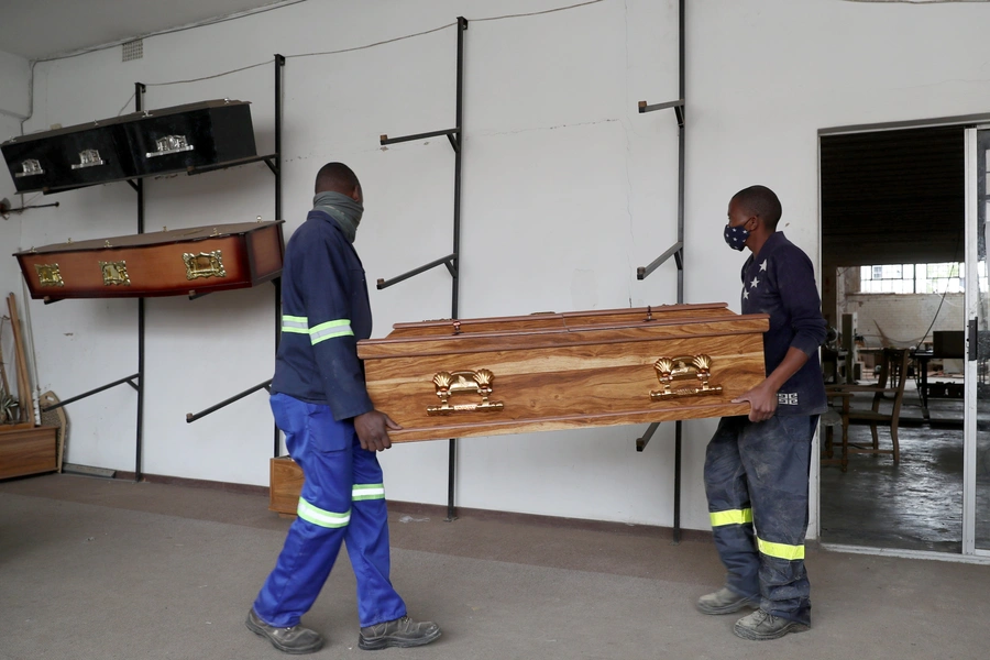
[[[210,75],[286,55],[345,48],[550,0],[302,3],[145,41],[144,59],[111,50],[36,68],[31,129],[113,116],[135,80]],[[672,113],[636,102],[676,98],[675,2],[605,0],[540,16],[470,24],[465,34],[465,150],[461,316],[673,302],[675,271],[646,282],[635,268],[675,240]],[[722,243],[725,207],[762,183],[783,202],[782,229],[817,263],[820,128],[990,110],[981,63],[982,4],[864,4],[838,0],[689,3],[686,300],[738,310],[744,255]],[[312,176],[351,164],[366,194],[356,246],[371,280],[442,256],[451,244],[453,157],[446,140],[377,145],[453,125],[454,30],[353,53],[290,58],[285,70],[285,217],[309,207]],[[148,107],[208,98],[251,100],[258,148],[271,150],[272,66],[204,82],[150,87]],[[41,94],[41,90],[44,94]],[[148,229],[272,212],[263,165],[147,184]],[[22,244],[133,233],[124,185],[59,196],[32,218]],[[442,270],[372,290],[375,336],[393,322],[449,316]],[[272,372],[271,287],[150,300],[144,471],[265,484],[271,416],[262,394],[186,425],[201,409]],[[128,375],[135,304],[32,305],[42,387],[61,396]],[[70,366],[69,366],[70,365]],[[69,409],[73,462],[133,469],[134,396],[103,393]],[[714,420],[686,422],[682,524],[706,528],[701,484]],[[641,427],[464,440],[458,503],[466,507],[651,525],[672,522],[672,436],[642,454]],[[383,457],[389,497],[446,503],[447,443]],[[812,521],[814,528],[816,522]]]

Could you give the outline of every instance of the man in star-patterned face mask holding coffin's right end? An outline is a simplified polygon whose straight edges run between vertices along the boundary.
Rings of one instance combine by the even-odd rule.
[[[826,397],[818,363],[825,319],[807,255],[777,231],[781,206],[767,187],[737,193],[725,241],[752,253],[743,266],[743,312],[770,315],[767,378],[735,402],[708,443],[705,492],[725,586],[702,596],[704,614],[756,612],[736,622],[745,639],[776,639],[811,626],[804,569],[811,444]]]

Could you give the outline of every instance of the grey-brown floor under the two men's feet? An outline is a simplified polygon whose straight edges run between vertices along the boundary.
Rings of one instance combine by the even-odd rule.
[[[387,476],[386,476],[387,480]],[[288,521],[258,494],[45,475],[0,483],[0,659],[284,658],[244,617]],[[314,657],[430,660],[904,660],[987,657],[990,565],[809,548],[812,629],[736,638],[694,610],[724,571],[710,537],[393,510],[393,580],[443,637],[356,648],[342,556],[304,624]]]

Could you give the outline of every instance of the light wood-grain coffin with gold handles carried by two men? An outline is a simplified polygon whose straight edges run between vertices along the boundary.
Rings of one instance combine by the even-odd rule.
[[[393,441],[747,415],[767,315],[725,304],[399,323],[361,341]]]

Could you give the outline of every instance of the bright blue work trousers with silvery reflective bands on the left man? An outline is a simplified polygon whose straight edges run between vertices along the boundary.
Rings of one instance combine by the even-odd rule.
[[[361,449],[353,422],[333,419],[328,406],[277,393],[271,404],[289,455],[306,481],[298,517],[254,602],[254,612],[271,626],[298,624],[346,541],[358,579],[361,626],[405,616],[406,605],[388,579],[385,488],[375,453]]]

